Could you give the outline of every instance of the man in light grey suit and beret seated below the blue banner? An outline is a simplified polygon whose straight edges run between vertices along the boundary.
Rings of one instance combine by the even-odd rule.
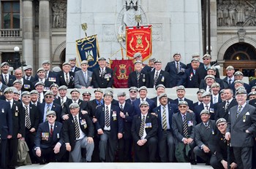
[[[89,67],[88,62],[83,60],[80,66],[82,70],[75,72],[75,88],[86,89],[93,87],[92,72],[87,69]]]

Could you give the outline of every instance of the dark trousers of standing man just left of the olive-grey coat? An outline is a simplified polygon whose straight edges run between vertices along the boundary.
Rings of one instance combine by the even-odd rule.
[[[15,168],[17,165],[18,138],[10,138],[7,141],[8,167]]]

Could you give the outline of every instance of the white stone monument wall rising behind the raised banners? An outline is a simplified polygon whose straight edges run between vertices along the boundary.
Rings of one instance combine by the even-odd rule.
[[[153,25],[151,57],[162,60],[163,68],[173,60],[175,52],[181,53],[184,63],[190,63],[195,52],[203,55],[200,0],[134,0],[134,5],[136,1],[135,13],[141,14],[141,25]],[[88,24],[88,36],[98,35],[100,56],[121,59],[117,36],[126,21],[126,12],[126,0],[68,0],[66,60],[77,55],[75,40],[84,37],[81,23]]]

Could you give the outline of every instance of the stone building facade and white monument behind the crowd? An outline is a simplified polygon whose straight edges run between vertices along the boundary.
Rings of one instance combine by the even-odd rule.
[[[256,0],[208,1],[211,55],[220,63],[220,72],[231,64],[247,76],[254,75]],[[19,54],[20,61],[26,61],[34,70],[41,66],[42,60],[59,66],[76,55],[75,39],[84,36],[81,23],[88,23],[88,34],[98,34],[102,56],[118,58],[120,55],[113,55],[120,49],[117,37],[124,34],[124,23],[135,24],[132,18],[140,13],[142,25],[153,25],[152,57],[161,59],[165,66],[178,51],[182,61],[189,63],[194,52],[203,55],[203,3],[203,0],[133,0],[137,9],[129,11],[131,0],[1,1],[0,62],[14,63]],[[16,46],[20,47],[18,53],[13,50]]]

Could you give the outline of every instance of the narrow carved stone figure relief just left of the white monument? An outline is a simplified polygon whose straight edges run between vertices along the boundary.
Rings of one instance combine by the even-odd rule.
[[[53,28],[66,28],[67,26],[67,0],[56,0],[52,3]]]

